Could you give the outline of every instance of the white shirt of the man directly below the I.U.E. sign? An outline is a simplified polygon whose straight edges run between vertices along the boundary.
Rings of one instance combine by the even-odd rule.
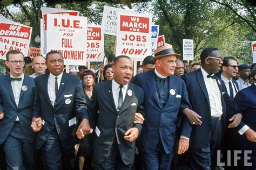
[[[63,75],[63,72],[58,75],[58,79],[57,79],[57,82],[58,82],[58,89],[59,89],[59,84],[60,82],[62,81],[62,75]],[[49,98],[50,98],[50,101],[51,101],[51,104],[52,106],[54,107],[54,102],[55,102],[55,99],[56,99],[56,95],[55,95],[55,75],[53,74],[49,74],[49,78],[48,78],[48,95],[49,95]]]

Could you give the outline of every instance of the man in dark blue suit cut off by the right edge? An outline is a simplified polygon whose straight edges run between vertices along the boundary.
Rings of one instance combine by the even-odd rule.
[[[256,168],[256,66],[252,69],[252,77],[254,83],[240,90],[234,98],[236,111],[242,113],[241,136],[237,142],[237,150],[242,150],[239,169]],[[250,152],[247,158],[244,156],[246,150]]]

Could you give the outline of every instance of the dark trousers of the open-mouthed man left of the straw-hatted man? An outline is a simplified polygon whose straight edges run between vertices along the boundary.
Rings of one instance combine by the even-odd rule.
[[[100,154],[100,153],[98,153],[98,154]],[[105,159],[105,161],[103,161],[102,164],[100,164],[100,165],[96,164],[95,169],[96,170],[103,170],[103,169],[105,169],[105,170],[107,170],[107,169],[109,169],[109,170],[112,170],[112,169],[130,170],[130,169],[132,169],[132,165],[133,164],[130,164],[130,165],[124,164],[122,157],[120,155],[119,148],[118,148],[117,139],[115,138],[113,141],[113,144],[110,148],[109,156]]]

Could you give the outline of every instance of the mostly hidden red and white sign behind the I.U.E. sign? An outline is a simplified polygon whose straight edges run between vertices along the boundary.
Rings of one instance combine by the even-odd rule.
[[[42,7],[42,16],[43,16],[43,24],[44,24],[44,29],[43,29],[43,34],[44,34],[44,53],[46,54],[46,31],[47,31],[47,14],[59,14],[59,15],[70,15],[70,16],[79,16],[78,11],[71,11],[71,10],[64,10],[64,9],[56,9],[56,8],[46,8]],[[42,38],[42,36],[41,36]],[[43,48],[42,48],[43,49]]]

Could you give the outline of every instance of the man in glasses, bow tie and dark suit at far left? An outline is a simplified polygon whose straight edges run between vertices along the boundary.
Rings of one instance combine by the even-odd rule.
[[[23,74],[23,54],[6,53],[10,75],[0,77],[0,144],[3,144],[7,169],[33,169],[35,133],[30,128],[36,103],[33,78]]]

